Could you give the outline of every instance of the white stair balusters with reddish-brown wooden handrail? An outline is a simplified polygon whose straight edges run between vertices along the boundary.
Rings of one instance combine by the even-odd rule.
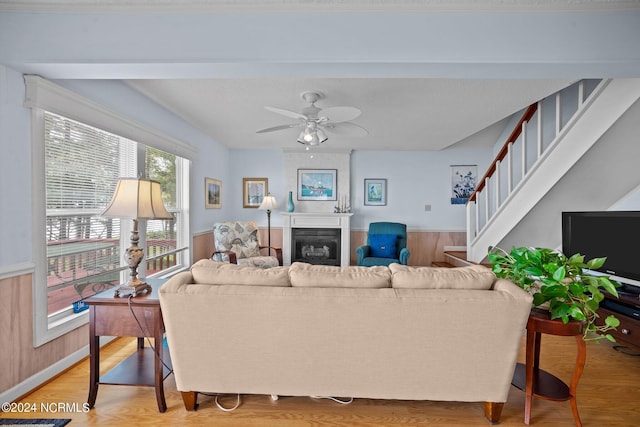
[[[529,106],[467,202],[467,253],[610,80],[581,80]],[[523,215],[526,212],[523,212]],[[486,253],[487,248],[482,248]],[[470,256],[469,259],[473,257]]]

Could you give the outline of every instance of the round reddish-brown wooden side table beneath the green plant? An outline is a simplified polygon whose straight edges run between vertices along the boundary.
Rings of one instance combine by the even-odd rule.
[[[513,375],[512,384],[525,392],[524,423],[531,421],[531,404],[533,396],[546,400],[571,401],[573,420],[577,427],[582,426],[576,402],[578,381],[584,370],[587,358],[587,346],[582,339],[584,324],[578,321],[562,323],[561,320],[551,320],[549,312],[532,309],[527,322],[526,363],[518,363]],[[576,366],[569,386],[554,375],[540,369],[540,337],[541,334],[557,336],[575,336],[578,345]]]

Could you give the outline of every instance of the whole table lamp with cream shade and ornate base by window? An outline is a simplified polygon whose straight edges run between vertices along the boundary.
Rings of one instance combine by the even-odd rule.
[[[173,219],[162,202],[160,183],[144,178],[120,178],[113,198],[102,211],[105,218],[131,218],[131,246],[125,251],[125,260],[129,265],[129,282],[115,291],[115,296],[138,296],[151,291],[151,286],[138,279],[138,265],[143,259],[144,251],[138,247],[138,220],[140,219]]]

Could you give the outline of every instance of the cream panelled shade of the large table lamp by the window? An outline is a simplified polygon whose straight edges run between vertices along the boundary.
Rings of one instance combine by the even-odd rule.
[[[173,219],[164,207],[160,183],[143,178],[120,178],[111,202],[100,215],[107,218]]]

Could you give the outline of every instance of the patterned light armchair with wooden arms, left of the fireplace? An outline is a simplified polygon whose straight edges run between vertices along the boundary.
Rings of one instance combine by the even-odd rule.
[[[260,246],[255,221],[218,222],[213,227],[214,261],[271,268],[282,265],[282,248]],[[263,255],[261,252],[266,249]],[[275,254],[273,256],[272,254]]]

